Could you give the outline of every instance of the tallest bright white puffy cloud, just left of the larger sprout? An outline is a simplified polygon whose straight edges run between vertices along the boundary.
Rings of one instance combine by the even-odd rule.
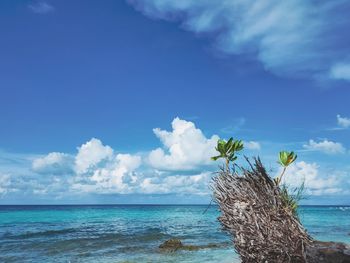
[[[215,146],[219,137],[206,138],[193,122],[175,118],[172,131],[156,128],[154,134],[161,140],[163,147],[150,152],[149,163],[161,170],[189,170],[212,163]]]

